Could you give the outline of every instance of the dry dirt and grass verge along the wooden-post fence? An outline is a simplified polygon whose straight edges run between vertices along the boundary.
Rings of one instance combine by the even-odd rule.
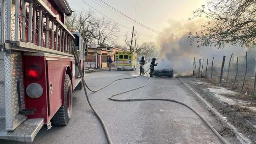
[[[223,77],[223,79],[224,80],[222,80],[223,82],[221,84],[219,84],[220,78],[217,76],[213,76],[213,79],[211,79],[211,77],[200,78],[200,81],[211,83],[215,86],[225,87],[231,90],[234,80],[230,78],[226,84],[226,77]],[[246,77],[243,91],[241,91],[242,82],[243,76],[237,76],[235,87],[232,90],[238,92],[238,94],[225,96],[251,102],[250,105],[246,106],[256,106],[256,92],[253,91],[254,79],[251,79],[249,76]],[[204,86],[200,85],[200,87]],[[239,131],[244,133],[249,139],[253,141],[253,143],[256,144],[256,129],[252,127],[252,125],[256,125],[256,113],[254,111],[241,106],[221,107],[214,102],[211,103],[221,114],[227,117],[229,122],[231,122],[235,127],[239,129]],[[220,134],[232,136],[233,133],[229,129],[223,129],[220,131]]]

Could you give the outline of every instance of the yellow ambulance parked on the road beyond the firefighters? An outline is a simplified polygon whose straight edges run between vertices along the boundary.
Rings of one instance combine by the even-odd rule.
[[[121,69],[131,69],[134,71],[137,67],[137,54],[134,52],[115,52],[115,68],[117,71]]]

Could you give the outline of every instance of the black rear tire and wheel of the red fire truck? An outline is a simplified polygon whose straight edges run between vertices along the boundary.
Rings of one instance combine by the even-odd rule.
[[[64,84],[64,105],[58,109],[53,116],[52,121],[54,125],[67,125],[72,116],[72,84],[70,77],[65,76]]]

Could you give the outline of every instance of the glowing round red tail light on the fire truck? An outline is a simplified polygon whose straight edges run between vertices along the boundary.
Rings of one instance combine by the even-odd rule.
[[[28,68],[26,68],[26,76],[31,79],[38,80],[40,79],[41,75],[42,75],[42,70],[35,65],[31,65]]]

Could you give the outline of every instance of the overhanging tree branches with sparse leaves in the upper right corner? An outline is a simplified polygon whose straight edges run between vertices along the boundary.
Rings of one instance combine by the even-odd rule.
[[[205,15],[206,22],[202,30],[189,34],[191,43],[218,48],[225,44],[256,45],[256,0],[208,0],[207,4],[208,11],[205,5],[193,11],[194,18]]]

